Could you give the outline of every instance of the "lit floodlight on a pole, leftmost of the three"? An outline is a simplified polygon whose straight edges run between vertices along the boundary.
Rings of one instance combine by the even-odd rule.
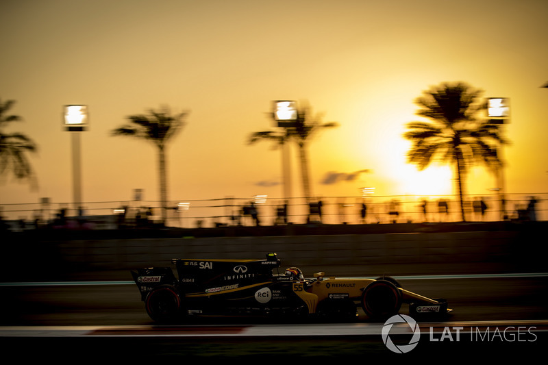
[[[88,127],[87,105],[64,105],[64,129],[71,132],[73,152],[73,205],[76,215],[82,207],[82,156],[80,154],[80,133]]]

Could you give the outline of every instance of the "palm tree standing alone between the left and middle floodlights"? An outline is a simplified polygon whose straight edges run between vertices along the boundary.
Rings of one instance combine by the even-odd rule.
[[[134,136],[152,142],[158,148],[158,172],[160,177],[160,201],[162,203],[162,221],[167,218],[167,179],[166,144],[184,126],[187,113],[172,115],[168,108],[149,110],[147,114],[128,116],[129,124],[114,129],[114,136]]]

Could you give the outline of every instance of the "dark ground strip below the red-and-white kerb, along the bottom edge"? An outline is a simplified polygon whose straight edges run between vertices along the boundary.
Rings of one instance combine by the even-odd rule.
[[[509,336],[510,333],[507,333]],[[508,337],[510,338],[510,337]],[[408,343],[408,338],[391,338]],[[429,333],[421,335],[417,346],[408,353],[387,349],[380,336],[314,338],[3,338],[5,355],[17,353],[25,360],[79,361],[159,361],[234,359],[259,360],[422,360],[490,361],[527,360],[545,353],[547,333],[537,332],[530,340],[475,340],[462,336],[456,340],[432,342]],[[32,351],[29,351],[32,349]],[[21,355],[23,350],[24,355]],[[26,351],[25,351],[26,350]]]

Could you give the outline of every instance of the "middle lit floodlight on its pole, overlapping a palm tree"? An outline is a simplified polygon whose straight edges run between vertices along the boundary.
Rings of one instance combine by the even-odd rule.
[[[284,129],[285,136],[282,137],[282,174],[284,176],[284,196],[286,201],[291,197],[291,168],[288,151],[288,138],[290,128],[295,127],[297,123],[297,102],[290,100],[274,101],[274,120],[277,122],[277,127]]]

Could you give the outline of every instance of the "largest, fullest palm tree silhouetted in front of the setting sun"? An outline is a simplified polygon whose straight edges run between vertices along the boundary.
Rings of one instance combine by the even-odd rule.
[[[453,164],[459,194],[460,212],[464,217],[464,176],[478,162],[498,171],[502,166],[497,145],[506,144],[499,126],[478,118],[485,103],[479,99],[481,90],[462,82],[444,83],[423,92],[416,99],[417,115],[431,121],[408,123],[404,137],[412,142],[408,151],[408,162],[419,170],[434,160]]]

